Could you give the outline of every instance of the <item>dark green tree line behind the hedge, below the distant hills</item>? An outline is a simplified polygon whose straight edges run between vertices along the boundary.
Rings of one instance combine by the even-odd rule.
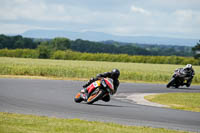
[[[54,39],[32,39],[20,35],[0,35],[0,49],[39,49],[41,57],[48,58],[51,51],[71,49],[87,53],[111,53],[128,55],[151,55],[151,56],[193,56],[195,48],[187,46],[166,46],[166,45],[142,45],[142,44],[121,44],[118,42],[94,42],[88,40],[69,40],[68,38],[57,37]],[[198,57],[198,56],[195,56]]]

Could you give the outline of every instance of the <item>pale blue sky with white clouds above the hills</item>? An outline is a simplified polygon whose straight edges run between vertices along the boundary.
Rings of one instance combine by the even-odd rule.
[[[200,0],[0,0],[0,34],[30,29],[200,37]]]

